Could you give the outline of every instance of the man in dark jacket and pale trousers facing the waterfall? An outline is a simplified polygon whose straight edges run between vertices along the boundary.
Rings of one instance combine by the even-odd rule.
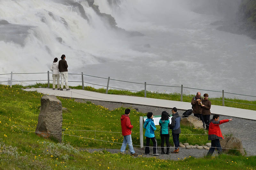
[[[61,55],[61,60],[59,61],[59,70],[60,70],[60,79],[61,79],[61,83],[60,83],[60,90],[63,90],[63,83],[64,83],[64,79],[65,79],[65,87],[66,90],[68,89],[68,64],[66,59],[66,56],[64,54]]]

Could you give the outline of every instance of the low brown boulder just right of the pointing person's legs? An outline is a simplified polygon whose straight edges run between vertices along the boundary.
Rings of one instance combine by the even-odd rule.
[[[230,149],[240,149],[236,150],[239,151],[242,155],[244,155],[244,148],[242,145],[242,141],[239,138],[235,137],[223,137],[224,139],[220,139],[220,145],[223,148],[223,152],[228,152]],[[224,148],[230,148],[230,149],[224,149]]]

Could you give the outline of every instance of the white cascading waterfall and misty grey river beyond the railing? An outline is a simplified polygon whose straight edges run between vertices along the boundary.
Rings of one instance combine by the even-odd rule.
[[[83,6],[89,21],[78,7],[63,2],[0,0],[0,20],[11,24],[0,25],[1,73],[46,72],[55,57],[65,54],[70,73],[242,94],[255,91],[255,40],[216,30],[211,23],[222,16],[194,12],[192,0],[95,0],[100,12],[111,14],[118,27],[145,34],[135,37],[116,33],[85,0],[73,2]],[[143,89],[115,81],[110,86]]]

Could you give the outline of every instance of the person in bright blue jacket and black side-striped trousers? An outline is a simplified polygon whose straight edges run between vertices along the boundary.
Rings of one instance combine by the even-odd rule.
[[[155,130],[156,130],[156,126],[154,124],[154,120],[153,120],[153,113],[152,112],[148,112],[147,114],[147,119],[144,123],[143,128],[146,129],[145,131],[145,136],[146,136],[146,147],[145,147],[145,154],[149,155],[150,151],[149,151],[149,142],[150,139],[153,142],[153,156],[158,156],[159,154],[157,153],[157,141],[156,141],[156,137],[155,137]]]

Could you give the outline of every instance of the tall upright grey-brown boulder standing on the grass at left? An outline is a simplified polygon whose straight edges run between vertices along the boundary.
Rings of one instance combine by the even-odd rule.
[[[41,98],[41,108],[36,126],[36,134],[44,138],[53,137],[61,143],[62,103],[54,95]]]

